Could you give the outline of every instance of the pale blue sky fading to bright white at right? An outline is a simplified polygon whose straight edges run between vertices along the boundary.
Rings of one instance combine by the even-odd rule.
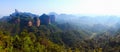
[[[0,16],[21,12],[120,15],[120,0],[0,0]]]

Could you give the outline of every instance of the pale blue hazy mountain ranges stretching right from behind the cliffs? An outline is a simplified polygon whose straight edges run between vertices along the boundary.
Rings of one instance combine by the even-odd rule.
[[[57,23],[69,23],[77,26],[76,28],[93,32],[116,31],[120,26],[120,17],[117,16],[76,16],[71,14],[56,14]]]

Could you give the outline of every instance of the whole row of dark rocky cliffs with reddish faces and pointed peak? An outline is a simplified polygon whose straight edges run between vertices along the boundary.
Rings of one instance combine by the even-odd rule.
[[[54,15],[46,15],[43,14],[41,16],[37,16],[31,13],[18,12],[15,10],[14,13],[10,14],[10,20],[8,22],[20,24],[21,26],[36,26],[40,25],[48,25],[50,23],[55,23]]]

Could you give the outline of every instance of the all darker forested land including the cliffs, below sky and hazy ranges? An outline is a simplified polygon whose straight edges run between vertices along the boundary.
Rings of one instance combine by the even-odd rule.
[[[119,28],[81,27],[55,18],[17,10],[4,16],[0,52],[120,52]]]

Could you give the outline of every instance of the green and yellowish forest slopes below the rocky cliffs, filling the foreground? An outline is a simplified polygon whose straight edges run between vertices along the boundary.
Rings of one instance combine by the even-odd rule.
[[[24,23],[24,22],[23,22]],[[28,27],[0,23],[0,52],[119,52],[119,31],[99,33],[78,30],[70,24]]]

